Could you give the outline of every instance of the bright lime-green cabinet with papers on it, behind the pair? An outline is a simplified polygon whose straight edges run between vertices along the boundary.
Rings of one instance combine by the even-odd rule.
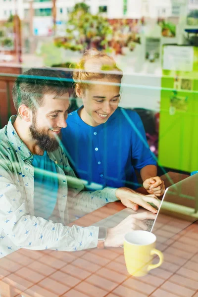
[[[198,170],[197,48],[194,53],[191,73],[163,70],[161,80],[158,163],[188,172]]]

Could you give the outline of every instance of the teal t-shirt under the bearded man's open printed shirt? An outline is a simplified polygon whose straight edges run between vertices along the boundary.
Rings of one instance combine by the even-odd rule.
[[[43,156],[33,155],[34,166],[34,209],[35,216],[49,219],[58,193],[58,177],[55,163],[45,150]]]

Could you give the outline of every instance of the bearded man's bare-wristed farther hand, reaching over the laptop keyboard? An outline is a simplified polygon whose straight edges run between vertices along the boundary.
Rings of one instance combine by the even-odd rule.
[[[117,189],[115,196],[120,199],[123,205],[135,211],[138,210],[138,205],[140,205],[153,213],[157,213],[157,209],[152,207],[149,203],[153,203],[158,208],[160,205],[160,200],[155,195],[143,195],[125,187]]]

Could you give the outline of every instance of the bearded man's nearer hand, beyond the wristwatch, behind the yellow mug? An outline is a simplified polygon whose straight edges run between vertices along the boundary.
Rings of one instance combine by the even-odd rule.
[[[135,213],[129,215],[121,223],[113,228],[107,229],[107,237],[104,241],[105,247],[120,247],[124,243],[126,233],[133,230],[147,230],[148,226],[142,221],[155,219],[156,215],[150,212]]]

